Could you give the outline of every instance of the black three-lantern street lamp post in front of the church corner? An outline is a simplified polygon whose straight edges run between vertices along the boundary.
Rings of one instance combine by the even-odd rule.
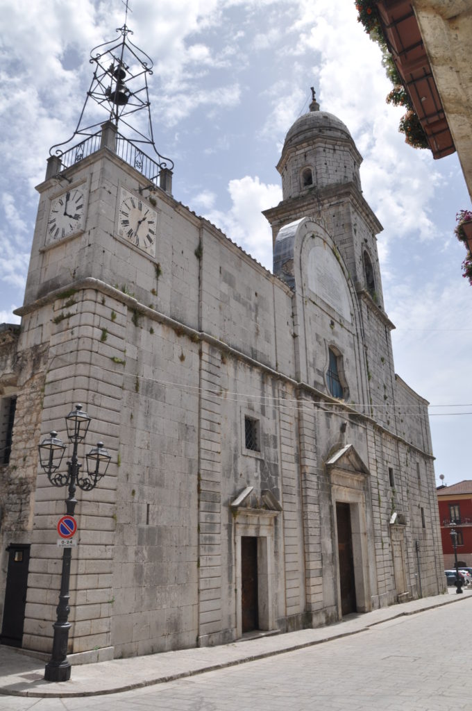
[[[50,436],[43,439],[38,445],[39,459],[41,466],[53,486],[68,486],[69,496],[65,500],[67,513],[74,515],[76,486],[82,491],[92,491],[102,477],[107,473],[107,468],[111,456],[103,447],[103,442],[99,442],[97,447],[93,447],[85,457],[87,461],[87,474],[80,474],[82,466],[77,461],[77,445],[85,438],[90,425],[90,417],[82,410],[82,405],[75,405],[75,410],[69,412],[65,417],[70,442],[73,442],[72,459],[68,461],[67,473],[60,474],[58,471],[63,460],[66,445],[59,439],[57,432],[50,432]],[[102,465],[103,471],[100,466]],[[57,619],[53,624],[53,655],[45,665],[44,678],[46,681],[68,681],[70,679],[70,662],[67,658],[68,638],[70,622],[68,622],[69,606],[69,582],[70,582],[70,560],[72,549],[65,547],[63,550],[63,569],[60,578],[59,604],[56,609]]]

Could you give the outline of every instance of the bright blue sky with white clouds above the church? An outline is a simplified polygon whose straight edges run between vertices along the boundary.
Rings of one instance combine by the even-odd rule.
[[[380,50],[350,0],[130,0],[132,40],[154,60],[154,137],[176,164],[173,194],[272,269],[261,210],[281,199],[286,131],[308,110],[348,125],[363,191],[384,226],[385,309],[395,370],[431,402],[436,479],[471,479],[472,287],[457,210],[470,208],[457,156],[404,144]],[[117,34],[122,0],[0,0],[0,322],[18,322],[51,145],[73,133],[90,50]],[[8,28],[8,31],[6,31]]]

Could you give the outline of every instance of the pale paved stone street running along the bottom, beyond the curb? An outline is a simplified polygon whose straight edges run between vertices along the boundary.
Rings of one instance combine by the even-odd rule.
[[[0,710],[470,711],[471,597],[181,680],[90,697],[0,697]]]

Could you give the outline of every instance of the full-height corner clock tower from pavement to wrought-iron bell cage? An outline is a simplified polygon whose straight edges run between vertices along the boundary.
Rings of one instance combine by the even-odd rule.
[[[152,134],[147,86],[152,62],[132,45],[130,33],[125,24],[119,41],[92,50],[95,72],[75,132],[50,149],[45,180],[37,186],[31,261],[17,311],[22,316],[17,352],[23,358],[34,353],[36,359],[36,389],[30,385],[24,397],[18,389],[16,410],[17,421],[29,408],[37,422],[36,441],[28,445],[32,461],[36,444],[51,430],[63,429],[63,417],[75,402],[92,417],[95,431],[87,439],[106,442],[112,455],[104,481],[78,497],[75,512],[79,545],[72,557],[68,654],[90,656],[95,649],[97,660],[112,658],[119,637],[110,601],[117,574],[114,546],[125,533],[115,530],[116,511],[119,501],[131,496],[129,473],[119,476],[123,448],[129,446],[120,417],[123,393],[139,390],[133,374],[137,324],[145,312],[156,313],[160,263],[172,242],[169,215],[176,204],[173,162],[159,154]],[[96,117],[90,112],[94,101],[109,109],[98,124],[87,121],[90,114]],[[149,134],[134,118],[143,111]],[[161,296],[159,304],[165,299]],[[44,619],[55,619],[60,587],[59,552],[48,544],[55,544],[65,490],[31,469],[31,557],[20,639],[24,648],[48,652],[53,626]],[[128,583],[124,579],[119,587]]]

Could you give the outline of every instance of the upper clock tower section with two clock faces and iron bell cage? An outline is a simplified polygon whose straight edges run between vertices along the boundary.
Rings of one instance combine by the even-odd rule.
[[[154,144],[147,85],[152,61],[131,43],[126,24],[120,33],[119,41],[92,50],[95,72],[75,132],[50,149],[37,188],[25,308],[83,279],[127,285],[137,298],[144,294],[130,284],[154,279],[162,212],[156,194],[171,195],[173,162]],[[102,124],[93,120],[94,102],[109,108]],[[148,114],[148,134],[139,112]]]

